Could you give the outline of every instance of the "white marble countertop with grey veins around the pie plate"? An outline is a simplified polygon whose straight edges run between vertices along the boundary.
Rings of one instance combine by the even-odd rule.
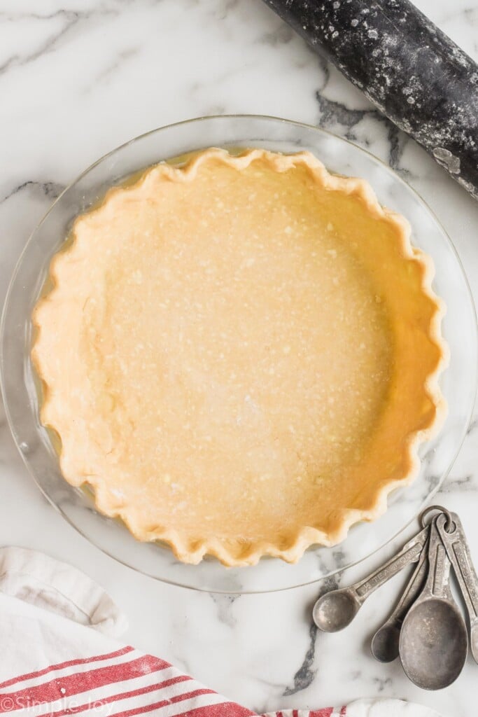
[[[478,60],[478,0],[416,4]],[[478,203],[260,0],[3,0],[0,98],[2,300],[29,233],[78,171],[156,126],[234,112],[317,123],[391,163],[438,214],[478,296]],[[398,663],[371,657],[369,637],[399,578],[339,635],[311,629],[314,586],[236,598],[168,587],[70,528],[29,478],[3,414],[0,429],[1,544],[43,549],[89,572],[128,613],[137,647],[257,711],[386,695],[475,717],[471,660],[451,688],[425,693]],[[439,501],[459,511],[478,559],[477,440],[475,423]],[[347,571],[344,584],[376,561]]]

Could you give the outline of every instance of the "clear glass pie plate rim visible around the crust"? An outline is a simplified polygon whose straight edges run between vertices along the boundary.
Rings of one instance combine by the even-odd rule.
[[[411,223],[412,242],[433,257],[434,289],[447,307],[443,333],[451,359],[441,386],[448,417],[438,437],[421,448],[419,476],[390,495],[384,516],[353,526],[339,546],[306,551],[295,565],[269,558],[245,568],[225,568],[215,559],[191,566],[177,561],[161,544],[136,541],[122,523],[98,513],[85,491],[62,478],[57,453],[39,422],[30,361],[32,308],[72,219],[130,174],[208,146],[264,147],[285,153],[307,149],[330,171],[368,179],[381,204]],[[33,232],[14,272],[4,307],[1,351],[1,384],[11,432],[40,490],[62,516],[95,546],[138,571],[185,587],[227,593],[269,592],[316,581],[370,556],[396,536],[439,488],[457,457],[477,379],[476,317],[467,279],[449,237],[418,194],[381,161],[342,138],[287,120],[249,115],[199,118],[153,130],[101,158],[65,189]]]

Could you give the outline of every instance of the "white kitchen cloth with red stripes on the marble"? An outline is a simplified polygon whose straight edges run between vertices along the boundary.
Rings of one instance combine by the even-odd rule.
[[[254,717],[169,663],[123,645],[127,622],[88,576],[36,551],[0,549],[0,715]],[[271,717],[439,717],[398,700]]]

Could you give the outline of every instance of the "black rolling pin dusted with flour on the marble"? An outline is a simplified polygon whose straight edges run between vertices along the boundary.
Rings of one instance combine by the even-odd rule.
[[[264,2],[478,199],[478,65],[444,32],[408,0]]]

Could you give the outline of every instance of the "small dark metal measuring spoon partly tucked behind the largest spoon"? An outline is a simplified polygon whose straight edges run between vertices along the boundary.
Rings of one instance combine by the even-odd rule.
[[[382,627],[379,627],[375,635],[373,635],[372,655],[381,663],[391,663],[398,657],[398,642],[400,640],[400,630],[403,620],[424,587],[426,571],[428,569],[427,553],[428,550],[425,545],[396,608],[388,620],[384,622]]]

